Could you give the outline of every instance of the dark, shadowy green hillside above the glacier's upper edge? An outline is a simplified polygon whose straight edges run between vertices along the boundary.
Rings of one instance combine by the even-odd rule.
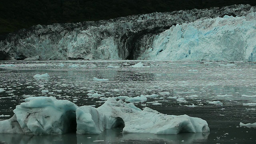
[[[232,4],[252,0],[0,0],[0,35],[37,24],[104,20]]]

